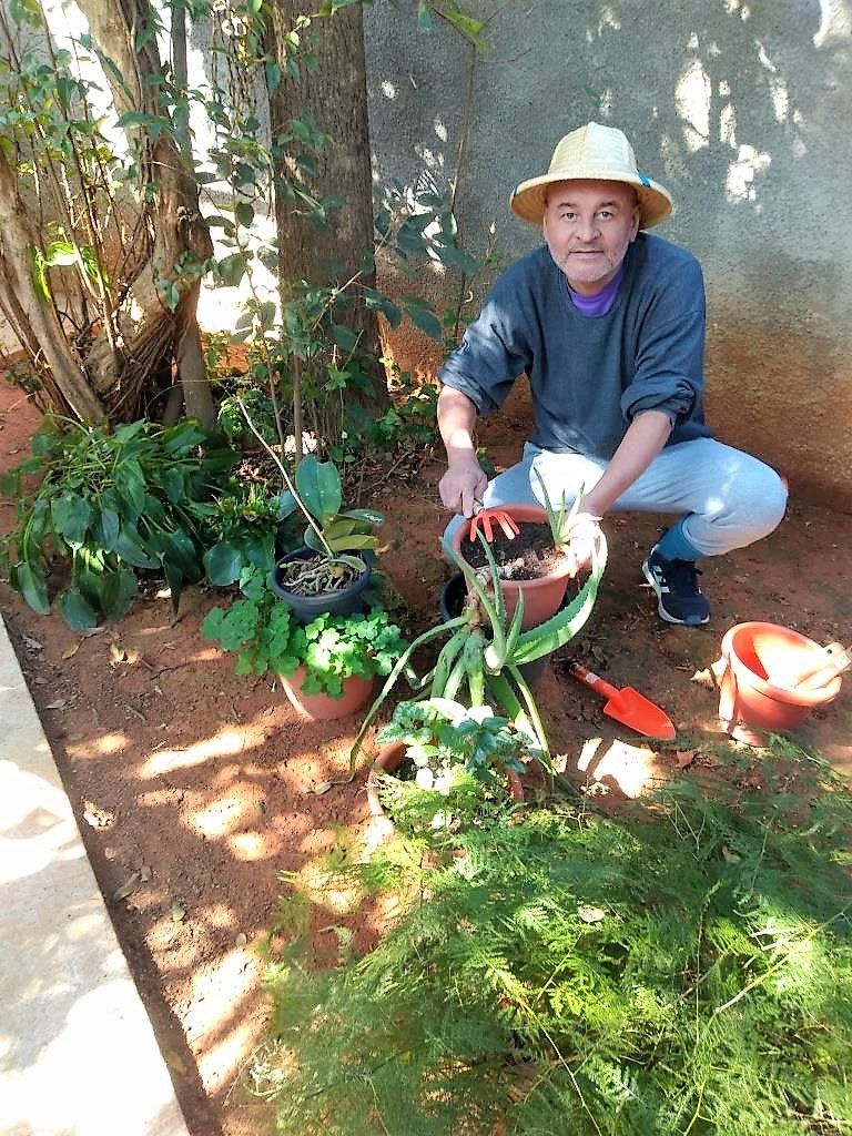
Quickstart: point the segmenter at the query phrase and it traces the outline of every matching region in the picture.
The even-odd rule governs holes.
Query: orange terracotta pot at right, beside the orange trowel
[[[825,665],[825,651],[788,627],[776,624],[737,624],[721,642],[725,663],[720,683],[719,718],[737,741],[762,745],[761,732],[791,730],[813,707],[836,698],[841,676],[824,685],[797,684]]]

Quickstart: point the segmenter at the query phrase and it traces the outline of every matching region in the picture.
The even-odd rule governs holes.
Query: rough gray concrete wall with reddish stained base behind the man
[[[419,33],[408,0],[366,10],[376,176],[458,176],[462,240],[484,248],[493,224],[512,259],[538,240],[508,210],[516,183],[588,118],[620,126],[675,197],[660,234],[704,266],[717,433],[852,511],[850,0],[477,11],[488,52],[471,74],[469,48],[445,24]],[[423,350],[399,343],[403,362]]]

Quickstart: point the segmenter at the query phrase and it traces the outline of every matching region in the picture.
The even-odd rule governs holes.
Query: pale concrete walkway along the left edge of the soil
[[[187,1136],[2,620],[0,1136]]]

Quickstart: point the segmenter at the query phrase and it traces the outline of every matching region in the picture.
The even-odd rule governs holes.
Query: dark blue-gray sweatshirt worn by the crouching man
[[[704,425],[704,283],[684,249],[640,233],[615,303],[584,316],[545,245],[496,281],[438,373],[479,414],[502,406],[526,373],[543,450],[609,460],[633,418],[662,410],[668,445],[711,437]]]

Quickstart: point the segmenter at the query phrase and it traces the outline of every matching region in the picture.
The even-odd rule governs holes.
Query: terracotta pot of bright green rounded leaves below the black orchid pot
[[[214,608],[201,625],[224,651],[237,651],[237,675],[279,677],[295,709],[308,718],[342,718],[361,709],[377,675],[389,675],[406,642],[387,612],[324,612],[300,624],[260,575],[229,608]]]

